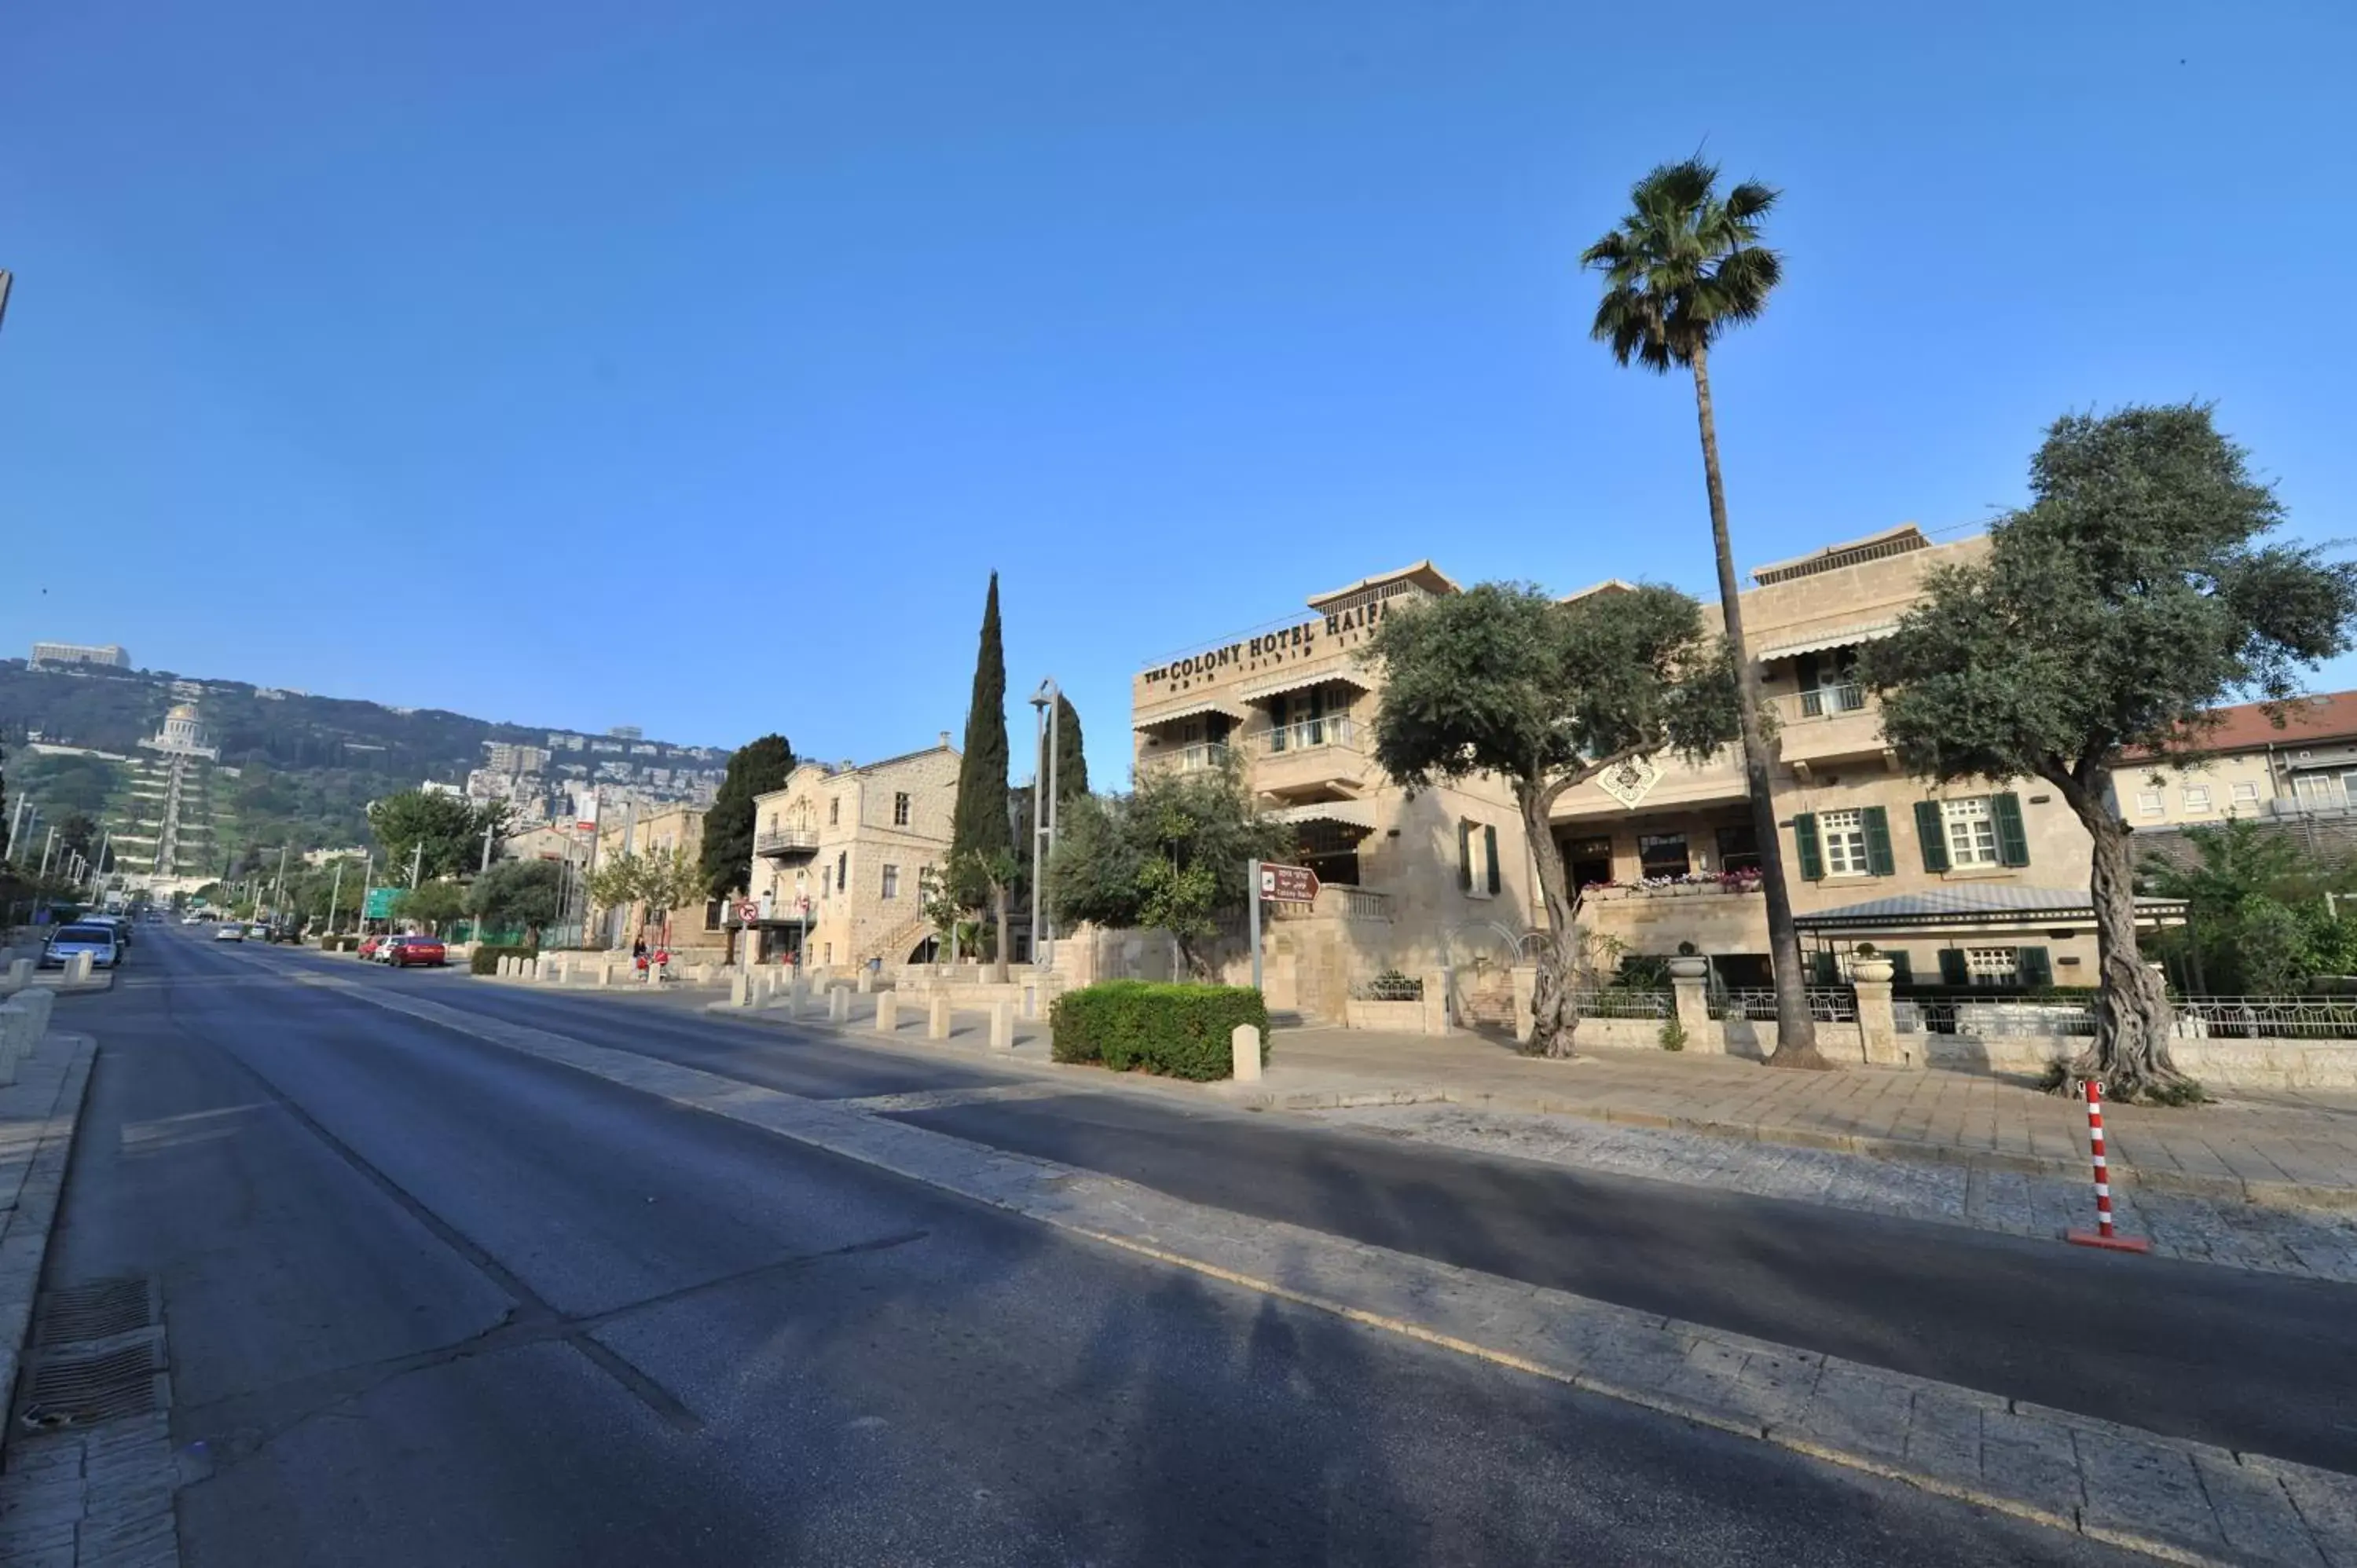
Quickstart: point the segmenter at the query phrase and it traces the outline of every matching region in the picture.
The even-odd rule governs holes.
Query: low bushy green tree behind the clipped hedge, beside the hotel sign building
[[[1056,920],[1155,927],[1178,941],[1190,969],[1223,915],[1244,908],[1252,861],[1282,861],[1294,830],[1263,816],[1244,790],[1242,764],[1193,773],[1148,771],[1122,797],[1075,802],[1047,896]]]

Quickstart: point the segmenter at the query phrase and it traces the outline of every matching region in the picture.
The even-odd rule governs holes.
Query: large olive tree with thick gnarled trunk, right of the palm
[[[2161,976],[2135,943],[2121,747],[2197,755],[2223,703],[2282,703],[2348,651],[2357,568],[2265,542],[2284,521],[2199,403],[2055,420],[2029,505],[1978,561],[1935,568],[1867,651],[1900,762],[1933,780],[2044,778],[2093,839],[2095,1037],[2067,1078],[2192,1099]],[[2131,769],[2150,764],[2128,764]]]

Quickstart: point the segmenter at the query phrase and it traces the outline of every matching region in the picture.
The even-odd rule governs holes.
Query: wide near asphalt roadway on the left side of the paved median
[[[156,931],[64,1009],[49,1285],[163,1283],[186,1563],[2124,1561],[273,974],[318,962]],[[811,1094],[971,1078],[721,1033]]]

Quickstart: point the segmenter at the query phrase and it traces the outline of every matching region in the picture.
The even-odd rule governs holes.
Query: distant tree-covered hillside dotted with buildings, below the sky
[[[9,797],[31,797],[52,818],[82,811],[101,823],[120,816],[127,769],[97,757],[31,755],[26,743],[90,747],[139,757],[139,743],[163,726],[174,703],[196,703],[224,776],[212,783],[214,854],[290,844],[321,849],[365,839],[363,806],[424,780],[464,783],[483,766],[486,743],[547,747],[544,726],[493,724],[438,707],[398,710],[379,703],[273,691],[245,681],[212,681],[167,670],[108,670],[94,665],[33,667],[0,660],[0,747],[7,750]],[[549,766],[552,785],[585,783],[592,771],[613,780],[620,752],[606,740],[575,743]],[[724,755],[662,740],[632,743],[632,764],[717,769]],[[229,773],[233,769],[233,773]]]

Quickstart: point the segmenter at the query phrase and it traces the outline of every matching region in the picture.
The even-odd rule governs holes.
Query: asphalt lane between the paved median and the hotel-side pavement
[[[655,1000],[384,979],[790,1094],[988,1082],[981,1061],[933,1066]],[[853,1078],[834,1078],[844,1070]],[[860,1073],[893,1078],[860,1087]],[[2352,1285],[1483,1158],[1138,1094],[971,1103],[903,1120],[1777,1344],[2357,1471]]]

